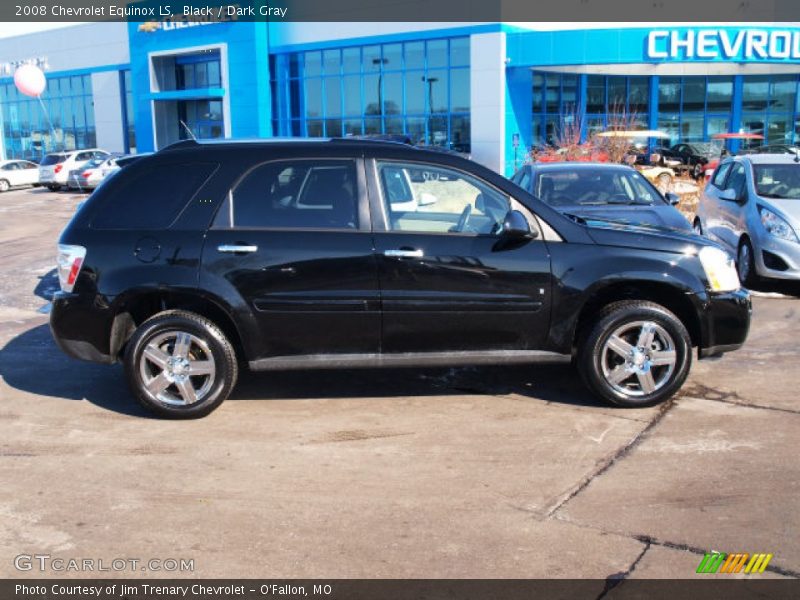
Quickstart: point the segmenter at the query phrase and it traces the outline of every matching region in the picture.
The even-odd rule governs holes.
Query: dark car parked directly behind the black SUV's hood
[[[512,181],[548,206],[583,218],[691,231],[675,205],[675,194],[661,193],[636,169],[607,163],[533,163]]]

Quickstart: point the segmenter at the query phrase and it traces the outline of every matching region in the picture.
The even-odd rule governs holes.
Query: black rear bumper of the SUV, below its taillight
[[[103,308],[78,294],[56,292],[50,311],[50,331],[58,347],[73,358],[110,364],[116,357],[109,350],[114,319]]]

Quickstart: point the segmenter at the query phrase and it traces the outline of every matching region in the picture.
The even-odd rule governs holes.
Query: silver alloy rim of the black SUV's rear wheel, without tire
[[[139,358],[146,393],[170,406],[201,402],[215,377],[214,356],[205,341],[186,331],[166,331],[150,340]]]

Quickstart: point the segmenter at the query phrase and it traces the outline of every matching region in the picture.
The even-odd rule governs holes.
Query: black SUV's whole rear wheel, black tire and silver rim
[[[181,339],[187,339],[186,334],[191,338],[186,352],[176,352],[178,334],[184,336]],[[171,340],[173,335],[176,337]],[[161,349],[162,355],[156,354],[159,360],[180,361],[184,355],[189,365],[202,363],[206,368],[211,365],[213,373],[189,376],[187,373],[191,371],[173,372],[173,369],[185,369],[186,362],[162,369],[152,359],[143,357],[146,348],[149,353]],[[139,403],[157,415],[171,419],[193,419],[209,414],[230,395],[238,376],[236,353],[219,327],[205,317],[179,310],[159,313],[142,323],[126,346],[124,364],[128,385]],[[164,379],[156,381],[162,376]],[[146,377],[151,377],[151,384],[155,383],[153,389],[159,389],[166,380],[170,383],[156,394],[148,391]],[[176,383],[179,380],[183,388]],[[185,387],[187,380],[197,394],[194,402],[184,397],[183,390],[188,389]],[[184,404],[177,402],[181,400]]]

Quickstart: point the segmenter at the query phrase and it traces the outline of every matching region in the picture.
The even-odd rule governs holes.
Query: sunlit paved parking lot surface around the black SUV
[[[718,550],[800,576],[797,287],[755,297],[746,346],[661,407],[601,405],[564,363],[245,374],[170,422],[50,337],[83,198],[0,195],[0,575],[49,554],[200,577],[692,577]]]

